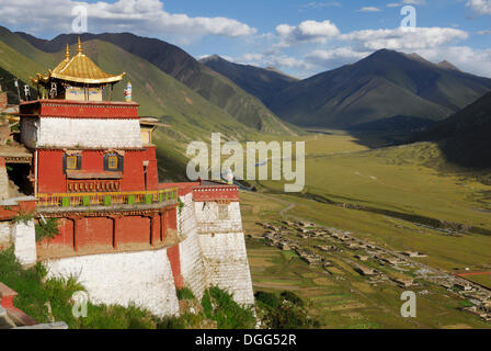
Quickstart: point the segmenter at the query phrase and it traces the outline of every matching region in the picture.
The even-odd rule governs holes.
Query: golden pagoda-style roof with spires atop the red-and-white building
[[[105,84],[117,82],[123,79],[125,73],[112,76],[100,69],[85,54],[82,53],[82,44],[80,37],[78,41],[77,55],[70,58],[70,52],[67,45],[65,59],[56,66],[48,76],[37,73],[37,79],[33,79],[34,83],[47,83],[50,79],[59,79],[70,82],[85,84]]]

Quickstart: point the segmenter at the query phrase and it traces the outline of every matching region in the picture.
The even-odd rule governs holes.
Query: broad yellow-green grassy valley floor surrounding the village
[[[442,272],[491,268],[491,186],[445,165],[435,145],[370,150],[344,134],[302,139],[307,152],[302,194],[283,193],[282,182],[261,182],[256,184],[260,192],[241,193],[243,225],[252,236],[247,244],[255,291],[294,291],[309,301],[312,316],[326,328],[491,327],[459,310],[471,304],[438,284],[424,280],[416,280],[414,287],[369,284],[354,270],[358,263],[354,256],[361,251],[326,253],[333,265],[324,269],[309,265],[294,251],[266,246],[261,238],[265,230],[258,223],[301,219],[347,230],[395,252],[424,252],[426,257],[414,260]],[[305,239],[295,230],[287,233],[286,237],[312,251],[315,246],[330,245],[324,238]],[[415,268],[401,271],[364,262],[370,264],[389,278],[414,278]],[[472,279],[487,285],[489,276]],[[406,290],[418,295],[416,318],[400,315],[400,295]]]

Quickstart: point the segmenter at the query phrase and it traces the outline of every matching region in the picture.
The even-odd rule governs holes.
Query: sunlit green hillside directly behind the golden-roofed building
[[[22,47],[24,56],[3,42]],[[76,46],[70,47],[71,53]],[[83,43],[83,52],[103,70],[111,73],[126,71],[124,82],[130,80],[134,100],[140,104],[141,116],[155,116],[170,124],[170,128],[159,128],[155,134],[158,156],[161,161],[162,179],[183,179],[185,174],[186,145],[192,140],[208,140],[212,132],[222,133],[222,139],[258,138],[258,131],[250,128],[231,117],[227,112],[205,100],[185,84],[164,73],[145,59],[121,47],[103,41]],[[3,33],[0,37],[0,78],[9,88],[11,102],[16,95],[13,78],[30,82],[28,77],[36,72],[46,73],[65,57],[65,50],[43,53],[15,34]],[[32,56],[32,58],[31,58]],[[114,99],[123,100],[124,83],[115,86]],[[35,92],[35,89],[33,89]]]

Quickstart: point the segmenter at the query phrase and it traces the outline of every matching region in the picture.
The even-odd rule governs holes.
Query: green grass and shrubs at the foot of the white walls
[[[46,279],[42,263],[23,269],[16,261],[13,248],[0,251],[0,282],[19,293],[15,307],[37,322],[65,321],[70,329],[183,329],[199,327],[206,317],[183,314],[181,317],[156,317],[139,306],[117,305],[87,306],[87,317],[76,318],[72,314],[72,296],[85,291],[76,278]],[[180,299],[195,299],[189,288],[178,292]],[[215,308],[207,310],[207,317],[217,321],[218,328],[252,328],[255,324],[250,308],[242,308],[230,294],[213,287],[205,292],[204,303]],[[50,312],[49,312],[49,308]]]

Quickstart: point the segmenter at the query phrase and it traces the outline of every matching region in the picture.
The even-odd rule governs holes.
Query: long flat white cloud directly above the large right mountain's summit
[[[469,35],[460,30],[447,27],[415,27],[395,30],[364,30],[342,34],[341,41],[354,41],[364,49],[416,49],[436,47],[455,39],[466,39]]]

